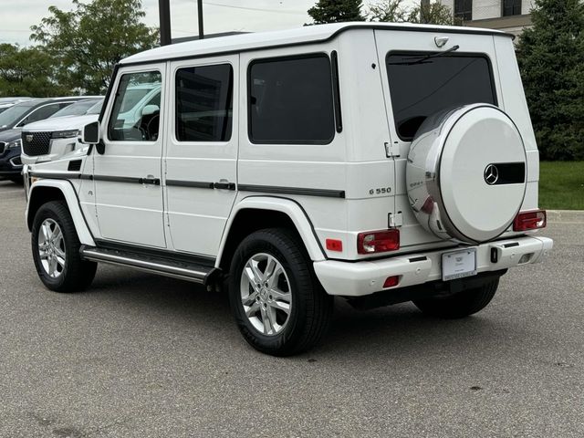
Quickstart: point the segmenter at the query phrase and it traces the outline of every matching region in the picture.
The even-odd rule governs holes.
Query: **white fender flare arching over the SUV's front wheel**
[[[63,194],[63,198],[65,198],[65,202],[67,203],[69,213],[71,214],[71,218],[73,219],[73,224],[75,224],[75,229],[77,231],[79,242],[82,245],[90,245],[95,246],[95,241],[93,240],[93,236],[89,232],[88,224],[85,222],[85,218],[81,213],[81,208],[79,207],[79,201],[77,193],[73,188],[73,185],[68,181],[61,181],[61,180],[38,180],[32,184],[30,187],[30,192],[28,193],[28,203],[26,203],[26,224],[28,224],[28,229],[32,228],[32,223],[34,219],[34,214],[38,208],[35,208],[34,214],[29,217],[29,210],[31,205],[42,205],[44,202],[43,200],[43,189],[44,188],[51,188],[57,189],[59,192]],[[53,199],[47,198],[46,202],[52,201]]]

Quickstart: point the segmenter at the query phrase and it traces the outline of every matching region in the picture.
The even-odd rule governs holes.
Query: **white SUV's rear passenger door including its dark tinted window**
[[[216,256],[235,202],[238,56],[171,63],[165,211],[174,249]]]

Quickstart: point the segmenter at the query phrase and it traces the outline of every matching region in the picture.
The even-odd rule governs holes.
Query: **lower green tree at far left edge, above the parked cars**
[[[68,94],[56,81],[55,62],[39,47],[0,44],[0,96],[45,98]]]

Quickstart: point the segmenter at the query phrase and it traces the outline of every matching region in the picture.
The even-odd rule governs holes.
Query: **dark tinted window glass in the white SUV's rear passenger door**
[[[228,64],[176,72],[178,141],[231,139],[234,73]]]

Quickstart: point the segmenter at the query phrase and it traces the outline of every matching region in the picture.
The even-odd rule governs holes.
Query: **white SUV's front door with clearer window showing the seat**
[[[96,212],[103,239],[166,247],[162,216],[165,64],[122,68],[94,153]],[[113,100],[113,102],[112,102]]]

